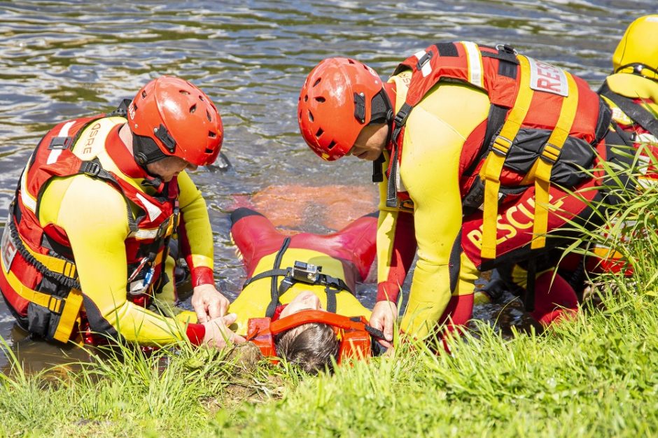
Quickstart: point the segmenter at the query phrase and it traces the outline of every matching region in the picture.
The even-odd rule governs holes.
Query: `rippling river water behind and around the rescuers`
[[[3,1],[0,217],[52,125],[109,111],[151,78],[182,76],[223,118],[232,167],[199,169],[193,179],[211,214],[216,278],[235,297],[244,280],[228,236],[235,205],[251,202],[277,225],[309,232],[374,209],[369,163],[321,162],[300,138],[297,95],[321,59],[355,57],[385,76],[437,41],[508,43],[598,87],[626,26],[655,7],[655,0]],[[25,339],[4,303],[0,336],[37,368],[64,357]]]

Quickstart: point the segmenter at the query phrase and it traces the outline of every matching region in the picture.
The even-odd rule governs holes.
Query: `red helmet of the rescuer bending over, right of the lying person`
[[[297,108],[302,137],[327,161],[346,155],[365,125],[392,114],[379,75],[349,58],[320,62],[309,73]]]

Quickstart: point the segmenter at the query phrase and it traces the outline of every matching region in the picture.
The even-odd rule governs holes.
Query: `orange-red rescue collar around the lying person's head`
[[[328,324],[334,330],[339,341],[338,357],[340,364],[350,358],[364,359],[372,356],[370,337],[384,339],[384,334],[367,325],[363,316],[349,318],[336,313],[319,310],[302,310],[272,322],[270,318],[250,318],[247,323],[247,340],[253,342],[263,356],[273,363],[276,360],[274,337],[294,327],[308,323]]]

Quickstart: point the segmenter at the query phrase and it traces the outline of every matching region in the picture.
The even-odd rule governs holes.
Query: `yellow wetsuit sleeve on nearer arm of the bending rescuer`
[[[484,92],[466,85],[435,87],[407,120],[400,178],[414,202],[418,260],[400,327],[416,337],[433,330],[451,297],[449,260],[461,250],[459,160],[468,135],[489,112]],[[379,242],[378,242],[379,243]],[[475,288],[477,269],[460,257],[452,293]]]

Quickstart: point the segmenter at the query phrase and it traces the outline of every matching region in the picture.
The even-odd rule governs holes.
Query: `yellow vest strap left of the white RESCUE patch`
[[[480,178],[484,179],[484,214],[482,217],[482,258],[496,258],[496,220],[498,218],[498,192],[500,190],[500,172],[507,157],[507,151],[517,136],[521,123],[526,118],[533,97],[530,87],[530,63],[524,56],[517,56],[521,67],[519,93],[514,107],[507,115],[507,120],[500,129],[500,134],[493,141],[491,153],[484,160]]]

